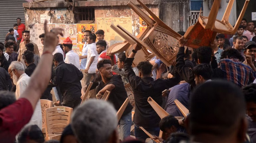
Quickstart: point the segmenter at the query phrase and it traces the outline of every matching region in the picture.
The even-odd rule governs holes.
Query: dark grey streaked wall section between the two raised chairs
[[[189,27],[189,0],[162,0],[159,17],[174,31],[186,31]]]

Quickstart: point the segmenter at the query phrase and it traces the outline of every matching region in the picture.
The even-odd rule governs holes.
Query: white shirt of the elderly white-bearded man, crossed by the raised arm
[[[18,99],[20,95],[25,91],[26,87],[29,84],[29,80],[30,80],[30,77],[26,73],[23,73],[19,77],[16,85],[16,92],[15,92],[16,99]],[[42,111],[41,111],[40,100],[38,100],[34,113],[28,124],[29,125],[36,124],[40,129],[42,129]]]

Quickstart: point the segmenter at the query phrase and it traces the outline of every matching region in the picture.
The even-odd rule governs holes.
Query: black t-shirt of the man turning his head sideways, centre
[[[125,102],[126,98],[128,97],[124,87],[124,83],[120,75],[113,75],[110,81],[106,85],[108,84],[115,85],[115,88],[111,91],[108,97],[108,101],[111,102],[114,105],[115,110],[118,111],[119,108]],[[101,80],[100,84],[96,87],[96,93],[98,93],[106,85]],[[127,113],[131,112],[131,110],[132,110],[132,105],[129,103],[123,115],[126,115]]]

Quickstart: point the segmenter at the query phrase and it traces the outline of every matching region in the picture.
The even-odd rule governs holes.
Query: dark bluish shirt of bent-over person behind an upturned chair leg
[[[190,92],[191,88],[189,83],[183,83],[172,87],[165,106],[166,112],[173,116],[184,117],[174,103],[174,100],[178,99],[179,102],[188,109]]]

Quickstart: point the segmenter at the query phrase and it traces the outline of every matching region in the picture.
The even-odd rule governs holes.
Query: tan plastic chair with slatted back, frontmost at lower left
[[[46,119],[46,140],[58,138],[64,128],[70,123],[72,108],[65,106],[52,107],[44,110]]]

